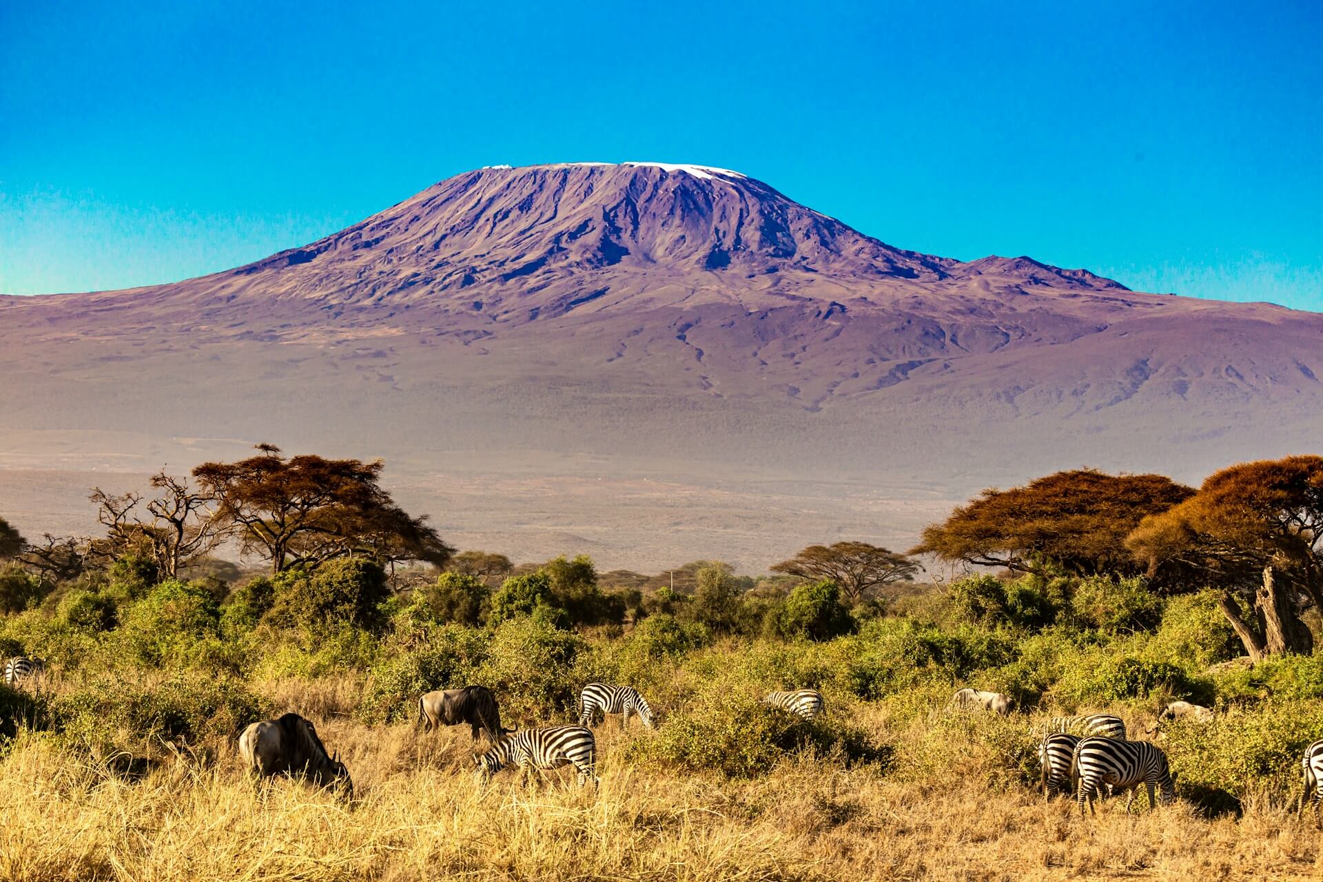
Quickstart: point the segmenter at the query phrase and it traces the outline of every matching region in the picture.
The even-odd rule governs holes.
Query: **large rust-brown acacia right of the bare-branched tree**
[[[217,522],[238,537],[242,553],[271,561],[273,573],[348,555],[441,566],[454,554],[426,517],[409,516],[381,489],[381,460],[257,450],[237,463],[204,463],[193,476],[214,497]]]

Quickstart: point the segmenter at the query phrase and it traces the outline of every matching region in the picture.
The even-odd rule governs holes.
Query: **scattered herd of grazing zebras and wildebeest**
[[[16,686],[44,676],[46,665],[41,659],[19,656],[4,665],[4,682]],[[812,721],[823,711],[822,693],[814,689],[773,692],[765,703]],[[1011,700],[1000,693],[960,689],[953,696],[950,707],[983,709],[998,714],[1011,711]],[[438,726],[471,727],[476,746],[486,735],[490,748],[474,754],[474,766],[482,782],[505,766],[521,771],[527,783],[536,772],[562,766],[573,766],[579,785],[597,785],[597,741],[591,726],[597,717],[619,714],[622,727],[631,715],[652,729],[658,718],[647,700],[632,686],[614,686],[591,682],[578,700],[576,723],[541,726],[536,729],[504,729],[496,698],[486,686],[464,686],[430,692],[418,700],[418,723],[426,729]],[[1172,702],[1159,721],[1176,717],[1207,719],[1207,707],[1188,702]],[[1154,730],[1150,730],[1154,731]],[[349,771],[339,756],[327,752],[312,723],[298,714],[284,714],[247,726],[239,737],[239,754],[259,779],[287,774],[306,778],[319,785],[336,785],[352,792]],[[1148,793],[1150,811],[1158,801],[1170,803],[1176,796],[1176,774],[1167,763],[1167,754],[1146,741],[1130,741],[1126,723],[1113,714],[1081,717],[1053,717],[1039,744],[1041,766],[1040,788],[1044,799],[1074,792],[1080,813],[1097,813],[1094,799],[1106,793],[1130,791],[1126,800],[1129,812],[1143,784]],[[1323,828],[1323,739],[1304,748],[1301,759],[1304,789],[1299,799],[1303,813],[1306,801],[1314,807],[1315,825]]]

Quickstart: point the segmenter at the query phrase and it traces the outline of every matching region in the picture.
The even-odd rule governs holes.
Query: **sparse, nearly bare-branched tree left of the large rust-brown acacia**
[[[146,554],[161,577],[172,579],[224,542],[225,530],[216,517],[212,493],[193,489],[185,479],[164,471],[152,475],[151,485],[156,493],[143,505],[148,520],[138,514],[142,495],[111,496],[99,487],[93,489],[97,520],[106,526],[105,542],[94,547],[102,557]]]

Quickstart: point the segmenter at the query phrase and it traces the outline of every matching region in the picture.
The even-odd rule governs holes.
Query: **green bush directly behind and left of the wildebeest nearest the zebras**
[[[359,718],[368,723],[413,719],[423,693],[472,682],[470,673],[486,660],[486,644],[479,631],[447,625],[433,631],[422,648],[382,653],[363,690]]]

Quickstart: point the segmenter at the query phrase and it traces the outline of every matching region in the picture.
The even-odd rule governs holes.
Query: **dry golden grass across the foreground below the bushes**
[[[1266,800],[1250,800],[1240,820],[1203,820],[1184,804],[1126,816],[1119,800],[1081,820],[1065,800],[988,789],[980,755],[967,783],[950,771],[882,775],[806,758],[732,782],[624,764],[614,719],[598,730],[599,791],[574,787],[568,770],[541,788],[507,771],[478,789],[462,729],[363,726],[343,715],[353,698],[344,682],[266,690],[320,711],[306,710],[353,774],[351,804],[288,780],[255,788],[232,746],[214,764],[161,763],[131,782],[26,737],[0,760],[0,878],[1323,877],[1312,824]],[[902,754],[923,726],[863,722]]]

